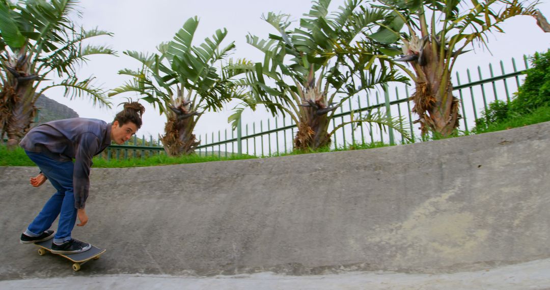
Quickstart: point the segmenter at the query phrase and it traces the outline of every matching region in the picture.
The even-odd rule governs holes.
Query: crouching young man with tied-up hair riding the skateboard
[[[47,122],[27,133],[20,146],[41,170],[30,179],[31,185],[37,187],[50,180],[57,192],[21,234],[21,243],[53,238],[52,253],[56,254],[90,249],[90,244],[71,238],[71,232],[77,216],[80,220],[77,226],[88,222],[84,208],[90,187],[92,157],[100,154],[111,141],[119,145],[128,141],[141,127],[144,111],[138,102],[125,103],[124,110],[109,124],[102,120],[73,118]],[[49,228],[58,215],[55,233]]]

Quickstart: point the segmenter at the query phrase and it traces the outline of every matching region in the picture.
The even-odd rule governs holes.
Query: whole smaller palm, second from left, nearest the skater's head
[[[158,54],[124,52],[138,60],[141,68],[120,70],[119,74],[133,79],[109,93],[138,92],[145,101],[158,105],[167,118],[162,143],[171,156],[194,153],[199,141],[193,130],[201,114],[221,109],[238,97],[230,82],[232,75],[223,68],[218,72],[216,66],[235,47],[233,42],[221,47],[227,30],[218,29],[199,46],[192,46],[198,25],[196,16],[188,19],[174,40],[158,46]]]

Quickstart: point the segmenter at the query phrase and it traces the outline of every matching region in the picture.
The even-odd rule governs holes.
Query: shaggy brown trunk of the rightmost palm
[[[439,136],[449,136],[458,127],[461,118],[458,113],[459,100],[453,96],[453,85],[450,71],[439,62],[438,53],[433,53],[431,43],[423,50],[423,60],[413,64],[416,71],[416,91],[411,99],[414,102],[412,111],[419,115],[422,135],[432,131]],[[445,62],[445,59],[443,60]]]

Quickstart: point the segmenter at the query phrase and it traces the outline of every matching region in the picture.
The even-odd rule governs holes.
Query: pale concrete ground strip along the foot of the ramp
[[[332,275],[283,276],[273,273],[215,277],[167,275],[102,275],[0,281],[1,289],[550,289],[550,259],[475,272],[404,274],[350,272]]]

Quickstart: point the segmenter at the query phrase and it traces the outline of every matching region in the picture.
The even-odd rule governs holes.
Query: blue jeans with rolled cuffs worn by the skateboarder
[[[42,232],[48,230],[53,222],[59,216],[56,235],[53,242],[61,244],[71,239],[70,233],[73,231],[76,222],[77,209],[74,207],[74,188],[73,188],[73,170],[72,161],[53,160],[41,153],[29,152],[25,150],[29,158],[38,165],[42,174],[48,177],[57,192],[46,202],[40,214],[31,222],[25,235],[40,236]]]

